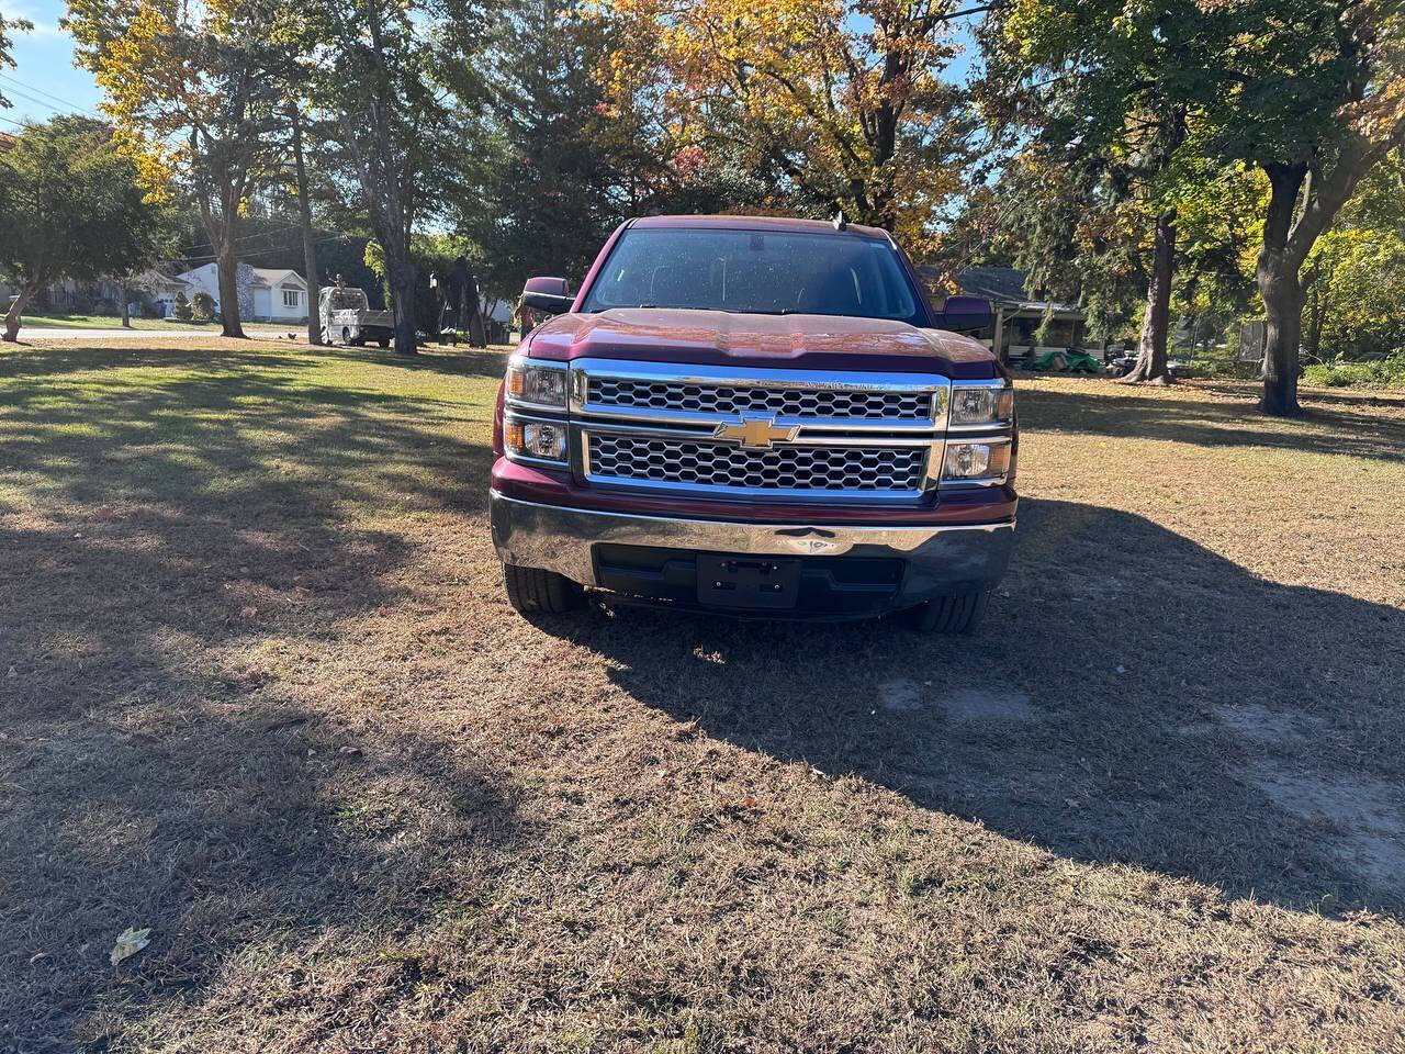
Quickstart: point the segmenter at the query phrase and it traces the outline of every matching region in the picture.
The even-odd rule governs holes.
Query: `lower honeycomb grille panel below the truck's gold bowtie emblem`
[[[896,493],[922,483],[922,447],[771,447],[594,434],[590,474],[693,486]]]

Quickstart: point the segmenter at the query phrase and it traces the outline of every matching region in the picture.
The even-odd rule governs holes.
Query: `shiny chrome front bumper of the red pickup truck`
[[[489,497],[493,545],[503,562],[555,571],[586,586],[599,585],[592,549],[601,542],[769,557],[896,557],[908,566],[899,599],[917,603],[993,586],[1014,544],[1013,521],[941,527],[722,523],[540,505],[497,490]]]

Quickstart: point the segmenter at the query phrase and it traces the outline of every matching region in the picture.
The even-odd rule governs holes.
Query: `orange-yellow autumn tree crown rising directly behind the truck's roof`
[[[613,84],[681,146],[731,149],[777,195],[901,233],[919,253],[962,190],[971,122],[941,73],[951,0],[608,0]]]

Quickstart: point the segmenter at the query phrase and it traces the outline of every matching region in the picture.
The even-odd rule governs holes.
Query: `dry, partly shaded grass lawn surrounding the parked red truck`
[[[542,630],[500,370],[0,353],[0,1050],[1402,1050],[1405,398],[1021,381],[974,639]]]

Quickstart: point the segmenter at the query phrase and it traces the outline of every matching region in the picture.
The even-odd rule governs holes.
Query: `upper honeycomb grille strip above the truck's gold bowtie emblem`
[[[760,410],[784,417],[932,420],[932,395],[924,392],[697,385],[679,381],[592,377],[587,395],[589,402],[594,406],[629,406],[646,410],[691,410],[694,413]]]

